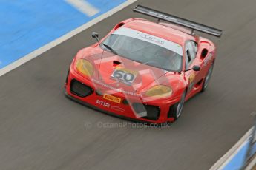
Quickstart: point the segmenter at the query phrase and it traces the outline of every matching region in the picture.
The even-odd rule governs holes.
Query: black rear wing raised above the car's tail
[[[202,33],[207,33],[209,35],[214,35],[214,36],[217,36],[218,38],[220,38],[222,33],[223,33],[222,30],[216,29],[214,27],[209,27],[209,26],[204,25],[204,24],[199,24],[199,23],[194,22],[194,21],[189,21],[187,19],[180,18],[180,17],[177,17],[177,16],[173,16],[171,14],[163,13],[163,12],[160,12],[160,11],[157,11],[157,10],[153,10],[151,8],[148,8],[148,7],[143,7],[141,5],[137,5],[137,7],[134,8],[134,12],[142,13],[142,14],[145,14],[147,16],[152,16],[154,18],[157,18],[158,21],[164,20],[164,21],[168,21],[168,22],[171,22],[171,23],[174,23],[174,24],[181,25],[183,27],[188,27],[188,28],[192,29],[191,34],[194,33],[194,30],[197,30],[197,31],[200,31]]]

